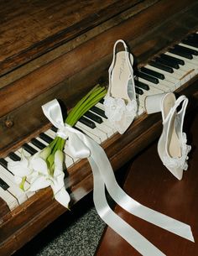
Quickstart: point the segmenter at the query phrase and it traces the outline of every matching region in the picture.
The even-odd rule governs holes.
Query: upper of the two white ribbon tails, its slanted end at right
[[[173,232],[182,238],[194,242],[189,225],[143,206],[138,203],[138,201],[128,196],[117,184],[112,166],[102,147],[95,142],[91,142],[89,148],[91,149],[91,157],[95,160],[98,170],[100,170],[107,191],[119,206],[127,212],[132,213],[134,216],[140,217],[147,222],[153,223],[156,226],[162,227],[169,232]]]

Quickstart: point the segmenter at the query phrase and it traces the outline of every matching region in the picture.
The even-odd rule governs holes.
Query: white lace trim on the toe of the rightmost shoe
[[[163,164],[169,168],[169,169],[177,169],[180,168],[182,170],[187,170],[188,169],[188,164],[187,160],[188,154],[190,152],[191,146],[187,145],[187,139],[186,139],[186,134],[182,133],[182,138],[181,138],[181,157],[177,158],[171,158],[169,155],[164,156],[163,158]]]

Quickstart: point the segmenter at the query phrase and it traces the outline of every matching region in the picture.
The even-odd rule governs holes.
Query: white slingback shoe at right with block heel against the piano
[[[158,153],[163,164],[178,180],[182,179],[183,170],[188,169],[187,159],[191,149],[183,133],[187,104],[188,99],[184,95],[176,100],[172,92],[148,96],[145,100],[148,114],[162,112],[163,132],[159,138]],[[180,111],[177,112],[179,106]]]

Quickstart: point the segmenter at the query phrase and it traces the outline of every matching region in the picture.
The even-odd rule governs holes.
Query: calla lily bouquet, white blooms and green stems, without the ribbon
[[[85,112],[105,97],[106,93],[105,87],[95,86],[69,112],[65,123],[73,127]],[[68,208],[70,196],[64,183],[65,141],[66,137],[57,133],[49,146],[33,156],[27,157],[22,151],[20,161],[9,162],[8,170],[13,172],[16,183],[23,191],[38,191],[51,186],[55,200]],[[29,187],[24,189],[26,180],[29,181]]]

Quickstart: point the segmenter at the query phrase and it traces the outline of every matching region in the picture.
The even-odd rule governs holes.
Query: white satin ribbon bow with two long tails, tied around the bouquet
[[[105,186],[112,199],[126,211],[194,242],[189,225],[141,205],[122,190],[117,184],[112,166],[102,147],[84,133],[71,128],[70,125],[63,122],[60,105],[57,100],[48,102],[42,108],[44,115],[58,128],[57,135],[61,138],[68,138],[67,145],[73,157],[87,158],[89,160],[94,179],[93,199],[96,211],[109,227],[128,241],[142,255],[165,255],[133,227],[128,225],[127,222],[123,221],[121,217],[118,217],[115,212],[112,212],[105,196]]]

